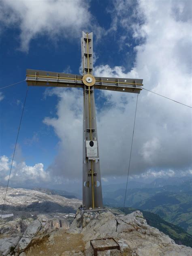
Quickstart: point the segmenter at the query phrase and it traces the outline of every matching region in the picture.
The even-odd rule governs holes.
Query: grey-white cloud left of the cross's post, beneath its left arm
[[[79,179],[82,169],[82,90],[56,88],[47,91],[47,94],[60,98],[57,106],[58,117],[44,119],[44,123],[53,126],[60,138],[59,154],[48,170],[55,177]]]

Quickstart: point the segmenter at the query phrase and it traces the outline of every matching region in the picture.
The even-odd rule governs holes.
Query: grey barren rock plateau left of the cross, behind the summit
[[[6,189],[0,187],[0,205],[4,204]],[[64,196],[45,194],[23,188],[8,188],[6,204],[0,222],[0,235],[23,233],[39,214],[49,219],[72,222],[81,201]]]

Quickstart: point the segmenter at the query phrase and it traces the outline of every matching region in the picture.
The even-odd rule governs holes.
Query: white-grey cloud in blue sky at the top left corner
[[[19,26],[21,50],[28,51],[32,39],[73,38],[92,20],[88,2],[83,0],[2,0],[0,21],[4,26]],[[89,21],[89,22],[88,22]]]

